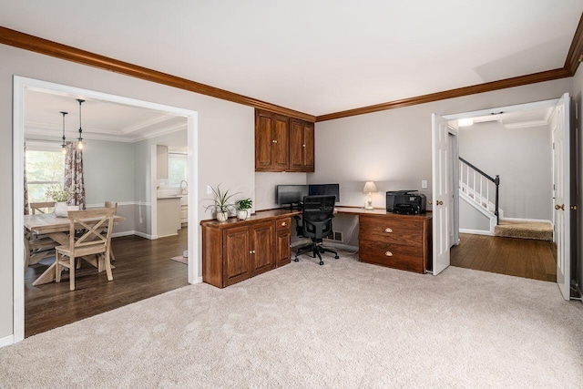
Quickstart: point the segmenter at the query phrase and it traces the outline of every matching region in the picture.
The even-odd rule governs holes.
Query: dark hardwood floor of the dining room
[[[76,290],[69,291],[68,272],[60,283],[33,286],[53,259],[30,266],[25,273],[25,336],[43,333],[89,316],[114,310],[188,285],[187,265],[170,261],[187,249],[188,230],[178,237],[149,241],[138,236],[112,240],[116,260],[113,281],[106,272],[83,261],[77,272]],[[43,263],[45,262],[45,263]]]

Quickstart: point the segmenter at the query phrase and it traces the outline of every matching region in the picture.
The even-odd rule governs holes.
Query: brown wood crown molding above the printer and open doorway
[[[564,68],[558,68],[554,70],[533,73],[526,76],[512,77],[498,81],[486,82],[484,84],[477,84],[470,87],[458,87],[455,89],[445,90],[443,92],[430,93],[429,95],[403,98],[400,100],[389,101],[387,103],[375,104],[373,106],[348,109],[345,111],[335,112],[332,114],[316,117],[316,122],[332,120],[335,118],[348,118],[356,115],[370,114],[373,112],[384,111],[387,109],[415,106],[417,104],[431,103],[433,101],[445,100],[447,98],[475,95],[477,93],[491,92],[493,90],[498,89],[506,89],[506,87],[520,87],[523,85],[535,84],[537,82],[543,81],[551,81],[554,79],[565,77],[571,77],[570,73]]]

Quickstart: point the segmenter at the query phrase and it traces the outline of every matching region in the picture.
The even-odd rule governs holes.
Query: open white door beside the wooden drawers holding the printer
[[[451,247],[451,223],[449,210],[452,206],[451,196],[451,161],[449,155],[449,128],[447,120],[431,116],[433,146],[433,273],[444,271],[449,266],[449,248]]]

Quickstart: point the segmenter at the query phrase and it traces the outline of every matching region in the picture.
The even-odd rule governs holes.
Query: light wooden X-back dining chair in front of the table
[[[75,291],[76,258],[82,258],[97,268],[103,262],[107,272],[107,280],[113,281],[109,252],[115,214],[116,210],[114,208],[70,210],[68,212],[69,244],[56,247],[56,282],[61,282],[62,268],[68,268],[69,289]],[[107,228],[106,234],[101,233],[104,228]],[[79,229],[84,229],[85,231],[76,240],[75,231]],[[68,260],[63,257],[67,257]]]

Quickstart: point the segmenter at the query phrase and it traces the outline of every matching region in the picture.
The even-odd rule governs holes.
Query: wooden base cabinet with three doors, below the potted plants
[[[290,263],[292,219],[201,222],[202,280],[219,288]]]

